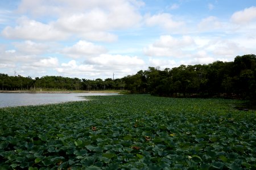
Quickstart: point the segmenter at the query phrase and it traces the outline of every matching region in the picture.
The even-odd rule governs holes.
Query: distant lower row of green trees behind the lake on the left
[[[63,76],[42,76],[32,79],[30,76],[23,77],[0,74],[1,90],[123,90],[125,83],[121,79],[79,79]]]

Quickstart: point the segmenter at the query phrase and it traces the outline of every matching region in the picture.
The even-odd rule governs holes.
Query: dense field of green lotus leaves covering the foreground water
[[[0,109],[1,169],[255,169],[240,100],[150,95]]]

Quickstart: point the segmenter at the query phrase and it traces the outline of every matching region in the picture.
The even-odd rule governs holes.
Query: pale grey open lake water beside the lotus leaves
[[[67,101],[86,100],[82,96],[104,96],[117,94],[104,93],[70,93],[70,94],[23,94],[23,93],[0,93],[0,108],[15,107],[22,105],[42,105],[63,103]]]

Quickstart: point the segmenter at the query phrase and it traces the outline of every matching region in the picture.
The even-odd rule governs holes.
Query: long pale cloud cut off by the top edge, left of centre
[[[91,10],[92,8],[104,8],[104,10],[109,10],[110,8],[120,8],[124,10],[126,8],[132,11],[136,10],[138,7],[144,5],[144,2],[137,0],[111,0],[111,1],[101,1],[101,0],[22,0],[19,4],[18,12],[24,14],[31,14],[34,17],[40,16],[63,16],[70,15],[74,13],[84,12],[86,10]]]

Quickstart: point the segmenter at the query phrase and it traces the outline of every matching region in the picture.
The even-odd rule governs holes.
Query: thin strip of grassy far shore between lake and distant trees
[[[71,93],[104,93],[119,94],[123,91],[101,90],[101,91],[30,91],[30,90],[1,90],[0,93],[16,93],[16,94],[71,94]]]

